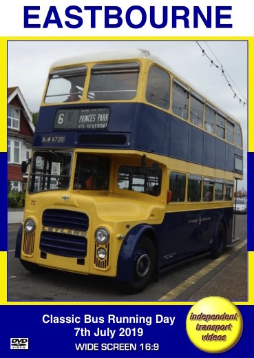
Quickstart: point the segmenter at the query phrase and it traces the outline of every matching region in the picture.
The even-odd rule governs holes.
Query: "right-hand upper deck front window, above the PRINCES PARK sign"
[[[87,99],[89,101],[114,101],[135,98],[138,73],[137,62],[94,65]]]

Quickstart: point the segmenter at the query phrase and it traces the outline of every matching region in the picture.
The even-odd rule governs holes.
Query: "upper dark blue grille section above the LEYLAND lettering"
[[[42,223],[45,227],[87,231],[89,219],[85,213],[80,211],[47,209],[43,212]]]

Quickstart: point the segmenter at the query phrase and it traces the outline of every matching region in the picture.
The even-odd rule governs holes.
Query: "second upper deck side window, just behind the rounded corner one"
[[[173,81],[173,113],[187,119],[188,118],[189,91],[176,79]]]

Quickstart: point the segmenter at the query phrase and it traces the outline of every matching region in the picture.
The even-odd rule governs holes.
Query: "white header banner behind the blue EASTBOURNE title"
[[[253,36],[252,1],[12,0],[0,36]]]

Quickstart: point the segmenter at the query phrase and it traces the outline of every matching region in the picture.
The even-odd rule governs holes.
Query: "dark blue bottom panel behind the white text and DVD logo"
[[[253,357],[253,306],[238,306],[242,314],[244,328],[240,340],[220,357]],[[3,307],[1,307],[3,310]],[[2,357],[211,357],[211,354],[196,348],[186,332],[186,319],[191,306],[6,306],[2,317],[1,356]],[[81,317],[80,324],[43,323],[43,315]],[[104,323],[83,323],[84,315],[90,319],[104,320]],[[145,323],[114,324],[108,323],[108,315],[151,317],[151,325]],[[156,315],[175,317],[173,325],[156,323]],[[89,316],[86,316],[89,317]],[[161,321],[161,319],[158,319]],[[78,335],[74,328],[86,328],[85,336]],[[95,337],[97,329],[116,330],[113,338]],[[142,328],[143,335],[137,334],[119,337],[119,328]],[[88,330],[90,335],[88,335]],[[132,331],[133,332],[133,331]],[[28,350],[10,350],[10,339],[28,338]],[[75,344],[136,344],[136,350],[119,352],[118,350],[77,351]],[[159,350],[141,350],[140,344],[159,344]]]

